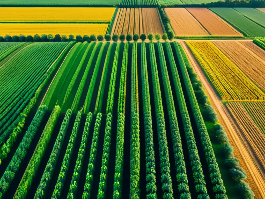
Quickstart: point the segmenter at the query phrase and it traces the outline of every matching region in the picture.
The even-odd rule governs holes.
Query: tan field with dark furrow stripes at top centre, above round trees
[[[115,26],[114,26],[115,25]],[[163,34],[156,8],[121,8],[117,12],[112,34]]]

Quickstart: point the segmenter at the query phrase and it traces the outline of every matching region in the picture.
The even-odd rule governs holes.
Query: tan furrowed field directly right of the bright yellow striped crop
[[[251,41],[249,43],[251,49]],[[249,77],[260,89],[265,90],[265,61],[239,41],[214,41],[218,47],[236,66]],[[265,57],[265,51],[263,51]]]

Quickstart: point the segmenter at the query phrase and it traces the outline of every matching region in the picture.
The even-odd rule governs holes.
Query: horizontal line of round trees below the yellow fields
[[[149,39],[150,41],[152,41],[154,38],[156,40],[160,40],[161,36],[160,34],[156,34],[155,36],[153,34],[149,34],[148,36],[146,36],[146,34],[141,34],[140,35],[140,39],[141,40],[146,40]],[[164,33],[162,35],[162,39],[164,40],[172,40],[174,38],[174,35],[167,35],[166,33]],[[127,34],[127,36],[125,36],[124,34],[121,34],[120,36],[118,36],[117,34],[114,34],[112,37],[110,34],[106,34],[105,36],[102,35],[98,35],[96,37],[96,35],[91,34],[90,37],[88,35],[84,35],[83,37],[78,34],[76,36],[76,38],[74,38],[73,34],[70,34],[67,38],[66,35],[62,35],[60,36],[60,34],[56,34],[55,36],[53,36],[52,34],[42,34],[41,36],[39,36],[38,34],[35,34],[33,37],[31,35],[28,35],[27,37],[24,34],[20,34],[19,36],[17,35],[13,35],[12,37],[9,34],[6,34],[5,37],[0,36],[0,42],[60,42],[60,41],[76,41],[76,42],[91,42],[91,41],[111,41],[113,40],[114,42],[117,42],[118,40],[120,41],[124,41],[125,39],[127,41],[137,41],[139,40],[139,35],[138,34],[134,34],[133,36],[131,34]]]

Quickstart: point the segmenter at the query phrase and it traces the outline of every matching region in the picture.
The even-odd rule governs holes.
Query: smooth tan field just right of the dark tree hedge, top
[[[209,33],[185,8],[165,8],[176,36],[207,36]]]

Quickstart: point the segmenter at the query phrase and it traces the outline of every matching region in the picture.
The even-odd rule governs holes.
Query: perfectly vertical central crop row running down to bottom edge
[[[140,198],[140,121],[137,66],[137,42],[134,42],[131,64],[130,198]]]

